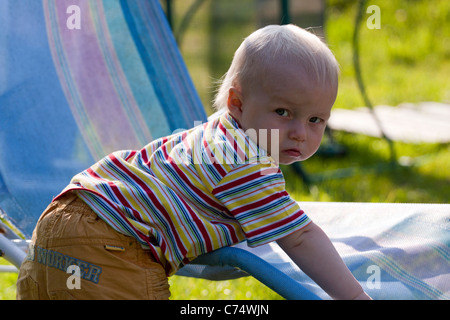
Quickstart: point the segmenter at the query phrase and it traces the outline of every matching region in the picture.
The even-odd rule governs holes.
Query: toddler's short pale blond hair
[[[316,35],[292,24],[270,25],[253,32],[236,50],[230,68],[220,81],[213,107],[225,109],[230,88],[242,89],[258,76],[261,67],[279,59],[301,65],[311,81],[337,88],[339,65]]]

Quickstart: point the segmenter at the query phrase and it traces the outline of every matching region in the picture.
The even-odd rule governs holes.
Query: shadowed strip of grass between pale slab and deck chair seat
[[[305,182],[292,166],[282,166],[286,188],[299,201],[448,203],[449,144],[396,143],[390,162],[382,139],[338,133],[347,154],[316,155],[302,163]]]

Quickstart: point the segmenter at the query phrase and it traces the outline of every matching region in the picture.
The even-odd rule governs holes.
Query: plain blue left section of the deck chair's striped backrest
[[[30,235],[46,203],[93,159],[77,140],[41,2],[0,7],[0,207]],[[80,156],[72,158],[74,145]]]

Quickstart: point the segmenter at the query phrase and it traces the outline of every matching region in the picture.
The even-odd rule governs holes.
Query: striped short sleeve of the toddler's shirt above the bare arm
[[[213,194],[240,223],[251,247],[283,238],[311,222],[286,192],[283,174],[272,163],[237,166]]]

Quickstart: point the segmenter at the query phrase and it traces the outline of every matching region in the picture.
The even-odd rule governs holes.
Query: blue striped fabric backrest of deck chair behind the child
[[[0,21],[0,207],[27,236],[96,160],[206,121],[158,1],[3,0]]]

